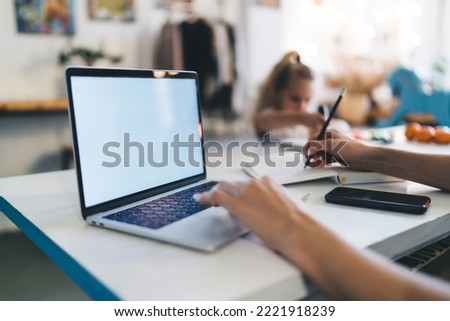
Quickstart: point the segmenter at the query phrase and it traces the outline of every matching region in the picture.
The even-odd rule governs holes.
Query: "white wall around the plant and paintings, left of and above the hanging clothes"
[[[101,45],[108,53],[122,55],[118,66],[152,67],[152,42],[167,16],[166,11],[155,8],[154,0],[136,0],[136,21],[131,23],[89,20],[86,1],[73,2],[73,44]],[[224,1],[222,6],[217,3],[197,1],[197,10],[242,24],[239,0]],[[63,98],[64,68],[58,66],[57,56],[67,48],[68,40],[65,36],[18,34],[14,1],[0,1],[0,100]]]

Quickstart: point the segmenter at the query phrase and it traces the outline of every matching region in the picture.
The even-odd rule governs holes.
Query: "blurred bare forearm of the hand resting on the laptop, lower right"
[[[306,222],[299,223],[293,244],[282,252],[331,297],[450,299],[450,287],[445,284],[413,275],[374,253],[355,249],[311,218],[303,220]]]

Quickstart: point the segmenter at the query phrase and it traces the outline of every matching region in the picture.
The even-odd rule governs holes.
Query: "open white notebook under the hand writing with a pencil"
[[[282,155],[272,153],[266,155],[255,164],[241,162],[241,167],[249,176],[261,178],[271,176],[283,185],[308,182],[328,178],[342,185],[396,182],[402,179],[376,172],[358,172],[340,165],[324,168],[304,168],[301,153],[287,151]]]

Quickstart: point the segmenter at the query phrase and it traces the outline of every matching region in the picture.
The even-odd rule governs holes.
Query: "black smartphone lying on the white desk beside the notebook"
[[[427,196],[336,187],[325,195],[329,203],[375,208],[410,214],[423,214],[430,206]]]

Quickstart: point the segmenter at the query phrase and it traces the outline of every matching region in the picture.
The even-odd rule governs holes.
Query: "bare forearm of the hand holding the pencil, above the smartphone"
[[[370,148],[366,169],[450,191],[450,155],[428,155]]]

